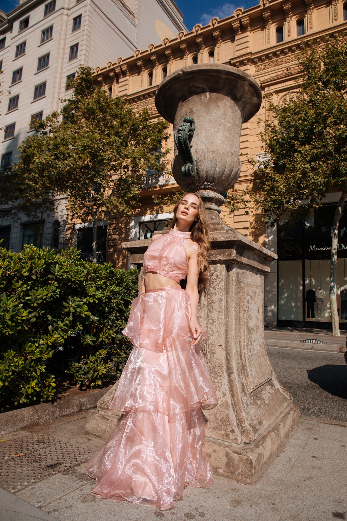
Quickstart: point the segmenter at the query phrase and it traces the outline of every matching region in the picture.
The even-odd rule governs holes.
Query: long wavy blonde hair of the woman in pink
[[[208,281],[208,273],[210,269],[209,259],[207,258],[207,254],[211,250],[211,243],[209,241],[209,225],[206,215],[206,210],[200,195],[193,192],[186,192],[182,195],[181,199],[176,203],[173,209],[173,219],[171,221],[170,227],[173,228],[177,221],[177,209],[178,205],[182,202],[186,195],[195,195],[199,199],[199,214],[198,219],[192,223],[189,228],[190,238],[192,241],[196,242],[199,245],[198,251],[198,268],[199,268],[199,278],[198,278],[198,291],[199,293],[204,289]]]

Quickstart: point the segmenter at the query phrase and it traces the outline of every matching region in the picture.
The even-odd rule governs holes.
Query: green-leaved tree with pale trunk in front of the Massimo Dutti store
[[[306,217],[328,191],[341,192],[332,226],[330,307],[332,330],[340,335],[336,300],[338,229],[347,198],[347,40],[305,44],[298,57],[296,99],[270,103],[273,120],[260,133],[264,157],[256,199],[269,225],[291,214]]]

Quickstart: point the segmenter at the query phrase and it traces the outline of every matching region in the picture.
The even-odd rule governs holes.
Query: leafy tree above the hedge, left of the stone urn
[[[36,133],[19,147],[19,162],[2,176],[1,192],[3,202],[7,197],[18,210],[39,216],[66,194],[71,217],[93,224],[96,262],[97,221],[108,211],[130,215],[147,170],[164,171],[159,159],[168,151],[153,151],[168,139],[167,125],[109,97],[89,67],[79,68],[73,86],[60,113],[32,122]]]

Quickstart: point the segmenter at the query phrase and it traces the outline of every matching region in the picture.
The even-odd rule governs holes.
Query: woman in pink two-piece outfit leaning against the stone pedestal
[[[134,348],[110,408],[124,414],[86,467],[102,498],[168,510],[185,485],[214,482],[202,450],[200,406],[216,405],[216,388],[199,345],[208,336],[197,318],[209,249],[203,203],[185,194],[170,232],[152,237],[142,292],[123,330]]]

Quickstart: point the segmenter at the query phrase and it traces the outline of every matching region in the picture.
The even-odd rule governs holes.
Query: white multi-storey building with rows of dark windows
[[[182,30],[183,15],[172,0],[24,0],[7,15],[1,11],[1,165],[16,162],[33,118],[59,110],[80,65],[95,69]],[[61,201],[55,215],[45,216],[38,245],[62,247],[65,207]],[[34,225],[25,216],[0,214],[3,245],[20,251],[32,242]]]

